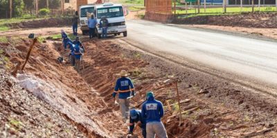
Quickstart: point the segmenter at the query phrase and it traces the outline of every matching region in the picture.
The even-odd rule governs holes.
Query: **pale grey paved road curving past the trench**
[[[144,50],[277,86],[276,42],[141,20],[127,21],[127,30],[123,40]]]

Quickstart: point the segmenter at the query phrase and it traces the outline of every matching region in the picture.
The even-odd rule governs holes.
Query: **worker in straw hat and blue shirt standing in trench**
[[[135,95],[134,85],[132,80],[127,78],[128,75],[126,70],[120,71],[120,78],[116,80],[116,86],[112,94],[115,98],[116,93],[119,92],[118,100],[123,122],[126,122],[129,118],[129,99]]]

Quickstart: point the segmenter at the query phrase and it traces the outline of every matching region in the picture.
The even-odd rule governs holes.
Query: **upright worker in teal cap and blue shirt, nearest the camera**
[[[146,101],[143,103],[141,114],[146,118],[147,138],[154,138],[155,135],[158,135],[160,138],[168,138],[166,128],[161,122],[163,103],[154,99],[153,92],[146,93]]]

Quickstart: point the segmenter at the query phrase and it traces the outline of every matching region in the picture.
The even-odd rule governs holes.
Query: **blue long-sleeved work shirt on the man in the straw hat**
[[[116,81],[116,87],[114,87],[115,92],[119,92],[119,99],[127,99],[130,97],[131,91],[134,91],[134,85],[131,79],[127,77],[120,77]]]

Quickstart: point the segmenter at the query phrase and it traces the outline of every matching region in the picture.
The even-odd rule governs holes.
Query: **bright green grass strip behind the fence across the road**
[[[255,12],[258,12],[258,7],[254,8]],[[274,12],[276,11],[275,7],[261,7],[260,12]],[[173,11],[174,12],[174,11]],[[198,10],[196,9],[196,12]],[[227,13],[235,13],[235,12],[252,12],[251,7],[246,7],[246,8],[239,8],[239,7],[231,7],[231,8],[226,8]],[[186,14],[186,10],[176,10],[177,14]],[[195,13],[195,9],[190,9],[188,10],[188,14]],[[204,14],[204,8],[200,8],[200,13]],[[206,13],[207,14],[223,14],[223,8],[206,8]]]

